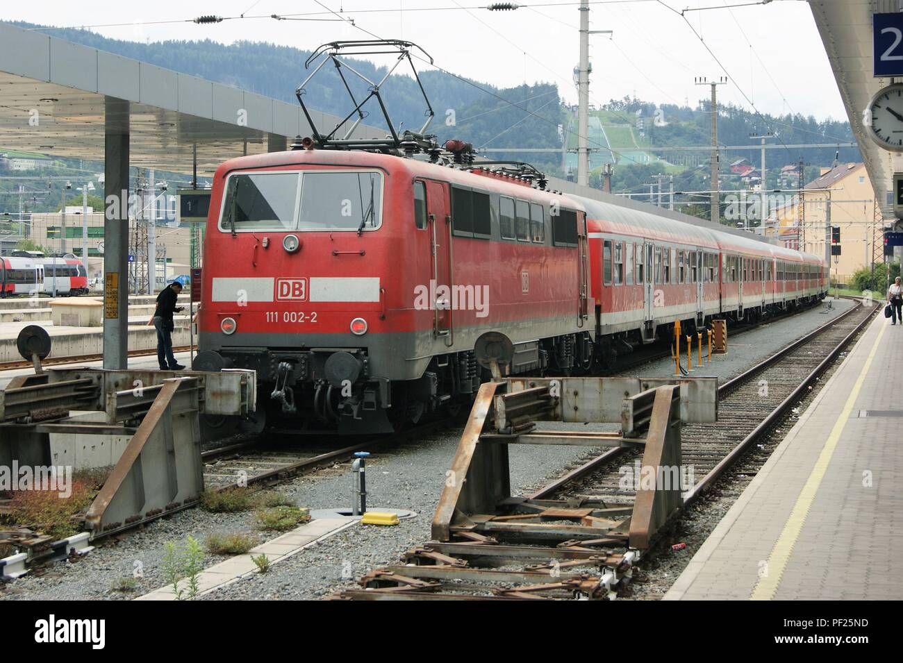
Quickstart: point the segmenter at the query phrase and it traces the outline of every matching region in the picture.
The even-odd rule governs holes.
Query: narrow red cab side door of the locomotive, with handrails
[[[448,185],[427,180],[427,232],[430,234],[433,273],[430,297],[433,298],[433,335],[445,336],[452,345],[452,214]],[[440,288],[444,286],[444,288]]]

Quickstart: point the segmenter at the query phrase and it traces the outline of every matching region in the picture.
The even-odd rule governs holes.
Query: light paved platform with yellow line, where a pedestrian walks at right
[[[875,318],[665,600],[903,599],[903,326]]]

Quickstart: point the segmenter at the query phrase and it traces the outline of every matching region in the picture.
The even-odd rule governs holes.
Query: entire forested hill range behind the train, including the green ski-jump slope
[[[14,23],[22,27],[40,27],[30,23]],[[51,34],[76,41],[103,51],[143,60],[183,73],[207,78],[226,85],[240,87],[266,97],[296,104],[294,90],[309,74],[304,60],[309,51],[277,46],[259,41],[239,41],[221,44],[216,41],[120,41],[108,39],[87,30],[61,29]],[[307,44],[315,46],[316,38]],[[382,64],[382,63],[380,63]],[[390,62],[386,61],[386,64]],[[431,69],[421,60],[414,60],[427,95],[435,112],[430,131],[440,141],[461,138],[476,147],[491,148],[556,148],[563,144],[576,147],[576,116],[573,108],[563,106],[557,86],[540,83],[534,86],[498,88],[481,81],[472,81]],[[452,68],[447,62],[437,64]],[[371,80],[385,74],[372,62],[353,60],[353,66]],[[406,67],[406,64],[404,65]],[[404,67],[399,67],[403,70]],[[366,94],[366,85],[349,75],[358,98]],[[396,128],[419,129],[424,124],[424,99],[414,78],[395,75],[383,87],[386,106]],[[600,96],[600,91],[595,93]],[[333,115],[347,115],[352,105],[335,70],[324,67],[307,86],[305,102],[312,108]],[[371,102],[367,124],[385,128],[378,108]],[[656,117],[660,122],[656,122]],[[649,172],[674,172],[681,168],[701,168],[708,159],[707,152],[656,152],[656,147],[701,146],[709,143],[707,102],[700,108],[663,105],[636,98],[612,99],[595,108],[591,115],[590,139],[593,152],[593,183],[598,183],[605,161],[616,164],[615,184],[631,187],[633,180],[642,182]],[[331,127],[330,127],[331,128]],[[719,142],[726,145],[758,144],[750,134],[775,131],[776,144],[844,143],[852,141],[850,124],[845,119],[816,120],[814,117],[786,114],[759,116],[747,110],[722,106],[719,109]],[[3,145],[0,145],[0,149]],[[769,170],[803,157],[816,169],[830,165],[836,149],[774,150],[769,157]],[[512,159],[534,162],[552,174],[563,174],[573,167],[575,154],[565,158],[561,152],[505,153],[492,152],[491,159]],[[724,158],[726,157],[726,159]],[[734,159],[746,157],[758,163],[756,152],[740,151],[722,156],[723,168]],[[841,161],[861,159],[855,148],[842,150]],[[669,161],[664,163],[658,161]]]

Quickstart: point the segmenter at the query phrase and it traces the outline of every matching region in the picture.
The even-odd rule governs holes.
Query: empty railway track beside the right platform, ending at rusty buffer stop
[[[728,490],[737,494],[742,491],[776,446],[757,447],[759,441],[813,389],[819,376],[877,309],[864,305],[851,308],[721,385],[718,421],[681,429],[681,462],[693,468],[694,480],[684,493],[684,508],[712,490],[735,465],[741,471],[731,471],[730,478],[741,482]],[[612,517],[629,514],[636,492],[625,488],[620,468],[634,465],[641,454],[641,450],[629,447],[610,449],[546,484],[527,500],[592,504],[597,510],[609,511]],[[644,554],[654,555],[654,549],[655,542]],[[502,540],[501,536],[458,537],[412,548],[400,564],[379,567],[363,576],[359,581],[362,589],[345,590],[330,598],[614,598],[619,586],[624,586],[619,583],[629,582],[638,558],[638,551],[619,546],[617,538],[597,543],[566,541],[550,548]]]

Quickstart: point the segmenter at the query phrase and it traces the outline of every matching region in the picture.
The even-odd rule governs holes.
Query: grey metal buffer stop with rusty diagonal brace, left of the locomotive
[[[15,377],[0,391],[0,465],[30,467],[41,476],[63,458],[63,465],[72,463],[82,444],[75,436],[99,436],[98,445],[126,437],[85,514],[92,537],[191,506],[204,489],[200,415],[245,417],[256,410],[254,371],[44,372],[40,360],[49,339],[35,338],[20,344],[23,355],[31,351],[35,374]],[[72,410],[102,413],[102,420],[73,417]],[[54,434],[70,436],[56,454]]]

